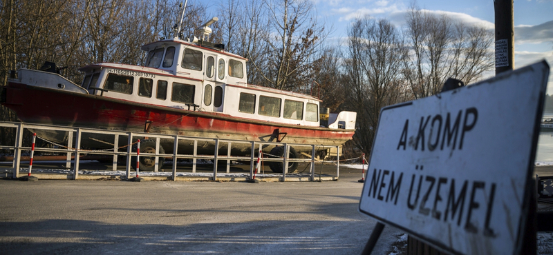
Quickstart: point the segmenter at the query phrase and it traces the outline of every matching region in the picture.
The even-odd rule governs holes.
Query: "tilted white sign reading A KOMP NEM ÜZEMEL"
[[[518,254],[549,70],[382,108],[359,211],[453,254]]]

